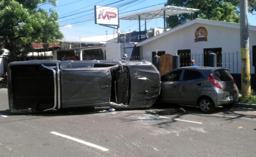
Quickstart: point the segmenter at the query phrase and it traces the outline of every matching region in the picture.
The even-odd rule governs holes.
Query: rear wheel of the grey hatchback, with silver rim
[[[198,101],[198,106],[201,112],[204,112],[204,113],[211,113],[215,109],[214,103],[210,98],[207,98],[207,97],[200,98],[200,100]]]

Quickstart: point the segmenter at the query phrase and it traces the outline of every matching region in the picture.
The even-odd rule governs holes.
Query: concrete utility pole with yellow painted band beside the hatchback
[[[241,94],[243,97],[251,94],[247,9],[247,0],[240,0]]]

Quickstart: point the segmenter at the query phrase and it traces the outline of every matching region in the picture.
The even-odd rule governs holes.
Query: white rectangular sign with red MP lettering
[[[95,24],[118,25],[118,8],[94,6]]]

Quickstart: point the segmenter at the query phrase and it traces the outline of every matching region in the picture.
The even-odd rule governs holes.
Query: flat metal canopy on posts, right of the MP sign
[[[141,11],[134,14],[128,14],[119,17],[121,20],[139,20],[139,29],[140,29],[140,20],[145,20],[145,30],[146,30],[146,20],[151,20],[159,17],[163,17],[164,19],[164,29],[166,29],[166,24],[168,22],[166,20],[166,16],[174,16],[178,14],[188,14],[199,11],[199,9],[194,8],[183,8],[177,6],[164,6],[160,8],[154,8],[147,11]]]

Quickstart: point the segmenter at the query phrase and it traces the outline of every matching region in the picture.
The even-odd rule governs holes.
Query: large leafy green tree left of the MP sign
[[[63,38],[58,13],[38,7],[57,0],[0,0],[0,47],[9,50],[10,61],[31,50],[31,42],[56,42]]]

